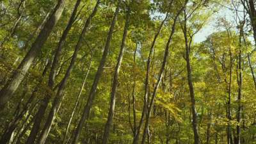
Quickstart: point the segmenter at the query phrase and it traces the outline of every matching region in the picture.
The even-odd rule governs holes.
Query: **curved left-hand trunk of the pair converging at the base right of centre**
[[[154,40],[152,42],[152,45],[150,47],[150,52],[149,52],[149,55],[148,55],[148,61],[147,61],[147,76],[146,76],[146,81],[145,81],[145,93],[144,93],[144,106],[143,106],[143,110],[142,110],[142,115],[141,115],[141,119],[140,119],[140,124],[138,126],[138,129],[137,129],[137,134],[136,134],[136,138],[133,140],[133,144],[138,144],[138,141],[139,141],[139,138],[140,138],[140,131],[141,131],[141,127],[143,125],[143,122],[144,122],[144,117],[145,117],[145,113],[147,112],[147,100],[148,100],[148,78],[149,78],[149,71],[150,71],[150,61],[151,61],[151,55],[152,55],[152,52],[153,52],[153,49],[154,49],[154,45],[156,44],[156,39],[157,39],[157,36],[159,35],[162,27],[163,27],[163,24],[165,22],[165,20],[167,19],[168,15],[169,15],[169,11],[170,11],[170,8],[172,6],[172,3],[173,1],[171,1],[170,3],[170,7],[169,7],[169,10],[168,12],[166,13],[166,17],[164,18],[164,20],[161,22],[161,26],[159,28],[159,30],[157,31],[156,35],[154,36]],[[136,131],[136,129],[134,129],[134,131]],[[136,132],[135,132],[136,133]]]

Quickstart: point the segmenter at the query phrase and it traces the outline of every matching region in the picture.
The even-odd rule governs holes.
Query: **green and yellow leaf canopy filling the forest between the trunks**
[[[0,1],[0,88],[3,88],[13,70],[17,68],[20,60],[26,55],[28,48],[23,49],[22,47],[24,47],[29,36],[40,24],[42,17],[44,17],[52,2],[50,0]],[[15,136],[18,137],[29,122],[33,120],[33,117],[35,117],[44,95],[51,93],[51,100],[54,99],[56,90],[51,90],[47,86],[51,65],[45,76],[42,76],[42,72],[47,63],[51,63],[54,57],[60,36],[63,33],[63,29],[67,26],[75,3],[76,1],[68,1],[58,24],[54,27],[42,51],[36,57],[29,72],[14,93],[14,98],[8,102],[3,111],[0,111],[0,136],[4,134],[8,125],[12,124],[15,116],[20,113],[35,88],[38,89],[36,97],[28,112],[15,129],[14,137],[12,138],[14,142],[17,141]],[[85,20],[92,13],[95,3],[96,1],[83,0],[78,8],[78,12],[80,12],[77,12],[77,18],[72,25],[70,33],[68,33],[63,52],[60,56],[55,79],[56,84],[60,83],[65,75],[79,34],[83,29]],[[122,43],[122,31],[129,3],[131,3],[131,0],[122,1],[121,3],[104,71],[95,92],[95,100],[93,101],[90,118],[84,124],[79,140],[80,143],[84,143],[84,141],[86,143],[101,143],[102,141],[104,125],[108,118],[115,65]],[[148,54],[153,38],[166,12],[169,10],[170,3],[171,1],[166,0],[139,0],[134,1],[131,6],[131,20],[129,22],[125,53],[118,78],[115,116],[109,134],[109,143],[132,143],[133,141],[134,112],[132,90],[134,88],[135,122],[138,127],[144,103]],[[255,42],[250,42],[251,39],[249,38],[253,30],[248,15],[237,16],[237,14],[236,16],[239,17],[239,20],[230,18],[234,22],[228,22],[225,18],[218,16],[218,11],[225,9],[225,7],[235,9],[234,6],[237,6],[236,4],[240,2],[232,3],[235,2],[222,3],[218,1],[196,0],[189,1],[186,6],[188,38],[189,41],[191,40],[191,72],[198,116],[198,131],[202,143],[216,143],[216,141],[218,143],[227,143],[228,125],[232,129],[233,141],[236,139],[237,125],[241,126],[241,143],[255,143],[256,141],[256,86],[248,62],[248,56],[250,56],[252,69],[255,72],[256,56],[255,47],[252,45]],[[86,79],[67,135],[66,141],[72,141],[74,129],[76,129],[81,118],[97,67],[101,61],[116,4],[117,1],[113,0],[101,1],[99,10],[95,17],[93,17],[90,27],[83,38],[84,40],[78,52],[74,70],[65,86],[64,98],[61,100],[60,109],[45,143],[61,143],[63,140],[63,134],[65,133],[72,108],[90,64],[92,50],[93,61],[90,73]],[[174,0],[172,4],[168,19],[156,40],[151,57],[148,105],[159,77],[159,70],[163,62],[164,51],[170,36],[173,19],[179,8],[184,4],[184,1]],[[220,4],[225,7],[221,7]],[[21,13],[22,17],[17,23],[15,31],[12,31],[22,9],[24,9],[24,12]],[[216,15],[218,19],[214,21],[212,17]],[[196,35],[204,26],[209,24],[216,26],[218,31],[212,32],[204,42],[194,43],[193,34]],[[186,55],[184,54],[185,40],[181,28],[181,26],[184,26],[184,12],[181,13],[176,25],[175,35],[173,35],[166,67],[164,68],[163,79],[157,91],[152,118],[150,118],[148,127],[147,141],[150,141],[150,143],[166,143],[166,141],[168,143],[193,143],[194,141],[191,100],[186,60],[184,60]],[[36,35],[29,45],[33,43]],[[240,51],[242,70],[237,66]],[[232,83],[229,83],[230,69],[232,69]],[[237,79],[240,72],[243,74],[242,97],[241,100],[237,100],[239,90]],[[230,106],[228,104],[229,85],[231,89]],[[36,103],[38,104],[35,106]],[[237,122],[239,104],[242,106],[240,123]],[[33,106],[35,106],[34,110]],[[229,108],[231,120],[228,120],[227,117]],[[44,126],[50,109],[51,104],[49,104],[45,112],[41,128]],[[29,113],[31,114],[29,115]],[[28,119],[26,119],[27,117]],[[28,131],[21,137],[20,143],[26,142],[31,127],[30,125]]]

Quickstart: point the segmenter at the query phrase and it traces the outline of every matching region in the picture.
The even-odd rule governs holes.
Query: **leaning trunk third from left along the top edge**
[[[88,19],[86,20],[86,23],[84,25],[84,28],[83,28],[83,31],[79,37],[79,40],[77,41],[77,44],[76,44],[76,49],[74,51],[74,54],[72,56],[72,60],[70,61],[70,65],[68,67],[68,70],[60,84],[60,87],[58,89],[58,92],[56,94],[56,97],[53,101],[53,104],[52,104],[52,108],[51,108],[51,111],[49,113],[49,116],[45,122],[45,125],[44,125],[44,128],[38,138],[38,141],[36,143],[44,143],[48,134],[49,134],[49,131],[51,130],[51,125],[52,125],[52,122],[54,121],[54,118],[55,118],[55,115],[56,115],[56,111],[57,111],[57,108],[58,108],[58,104],[59,104],[59,101],[60,101],[60,98],[61,96],[63,95],[63,90],[65,88],[65,85],[67,84],[67,80],[73,70],[73,67],[74,67],[74,64],[75,64],[75,61],[76,61],[76,57],[77,57],[77,53],[80,49],[80,45],[81,45],[81,42],[83,41],[83,38],[84,38],[84,34],[86,33],[87,29],[88,29],[88,26],[90,24],[90,21],[92,20],[93,16],[95,15],[95,13],[97,12],[97,8],[99,6],[99,3],[100,3],[100,0],[97,1],[96,5],[95,5],[95,8],[92,12],[92,14],[88,17]]]

